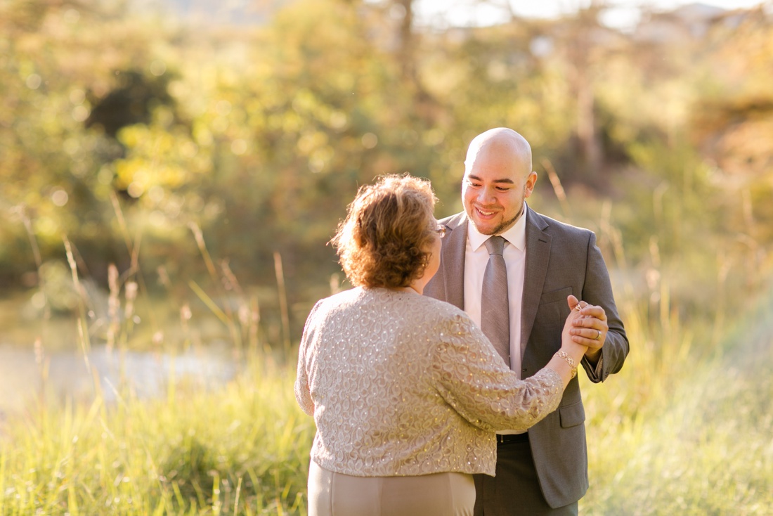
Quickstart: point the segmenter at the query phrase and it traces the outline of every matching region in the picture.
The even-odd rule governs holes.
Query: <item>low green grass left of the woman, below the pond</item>
[[[6,421],[0,514],[305,514],[314,425],[263,353],[222,388],[124,389]]]

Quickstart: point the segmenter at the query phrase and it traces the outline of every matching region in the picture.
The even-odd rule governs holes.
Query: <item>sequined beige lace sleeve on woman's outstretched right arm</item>
[[[481,429],[525,430],[558,407],[560,375],[543,369],[519,380],[467,316],[438,328],[433,361],[438,391],[459,414]]]

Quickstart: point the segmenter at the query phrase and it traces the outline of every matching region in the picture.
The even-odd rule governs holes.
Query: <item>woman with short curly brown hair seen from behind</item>
[[[587,349],[573,321],[596,307],[570,296],[561,351],[519,380],[464,312],[422,296],[440,264],[435,201],[424,179],[384,176],[332,239],[355,288],[317,302],[298,352],[295,397],[317,426],[310,516],[472,514],[495,431],[553,412]]]

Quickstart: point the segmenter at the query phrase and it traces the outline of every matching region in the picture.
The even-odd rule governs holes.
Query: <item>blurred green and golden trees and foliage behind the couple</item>
[[[533,206],[597,231],[642,302],[669,275],[673,306],[742,299],[769,270],[763,10],[642,39],[604,28],[603,3],[443,30],[406,5],[298,0],[223,26],[109,0],[0,3],[0,282],[37,288],[66,236],[103,288],[111,263],[124,281],[145,271],[143,289],[157,270],[187,285],[212,273],[191,259],[205,243],[255,288],[280,253],[291,304],[308,302],[339,272],[325,243],[359,185],[425,176],[451,214],[466,145],[500,125],[533,145]]]

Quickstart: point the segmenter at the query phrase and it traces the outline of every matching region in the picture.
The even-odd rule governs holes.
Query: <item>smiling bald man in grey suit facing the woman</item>
[[[441,268],[424,295],[451,302],[481,324],[489,262],[485,241],[502,236],[508,365],[528,378],[550,361],[561,345],[566,299],[572,294],[604,309],[604,316],[584,329],[594,345],[582,367],[598,383],[620,371],[628,355],[609,273],[592,231],[537,214],[526,205],[536,179],[529,142],[517,132],[495,128],[472,140],[461,187],[465,211],[440,221],[446,227]],[[588,487],[584,421],[574,378],[556,412],[528,432],[498,433],[496,476],[475,476],[476,516],[577,514],[577,501]]]

